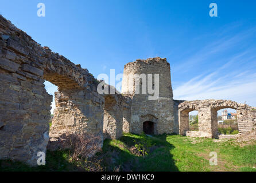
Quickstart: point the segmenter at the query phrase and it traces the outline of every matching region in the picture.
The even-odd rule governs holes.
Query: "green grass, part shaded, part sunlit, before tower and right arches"
[[[256,170],[253,168],[256,166],[256,145],[240,147],[235,145],[232,140],[214,142],[208,138],[161,135],[152,138],[153,144],[156,144],[157,147],[143,158],[135,156],[129,151],[129,148],[134,146],[133,140],[139,140],[139,138],[141,136],[128,133],[119,140],[104,141],[103,153],[107,153],[107,158],[112,160],[111,166],[108,164],[110,166],[108,170],[118,165],[121,165],[121,170],[132,171]],[[210,165],[210,152],[218,153],[218,165]]]

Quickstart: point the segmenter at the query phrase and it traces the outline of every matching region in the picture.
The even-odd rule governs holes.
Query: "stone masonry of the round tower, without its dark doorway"
[[[146,60],[138,59],[135,62],[130,62],[125,65],[123,71],[122,93],[130,94],[131,102],[131,121],[130,131],[133,133],[143,132],[143,122],[146,118],[151,117],[149,120],[154,122],[154,130],[156,134],[173,133],[174,115],[173,115],[173,94],[170,82],[170,65],[166,59],[162,58],[149,58]],[[140,82],[140,94],[135,93],[135,80],[130,81],[129,74],[159,74],[159,97],[157,100],[149,100],[152,94],[146,91],[142,94],[141,86],[143,80]],[[148,81],[148,75],[147,81]],[[154,87],[154,77],[153,77]]]

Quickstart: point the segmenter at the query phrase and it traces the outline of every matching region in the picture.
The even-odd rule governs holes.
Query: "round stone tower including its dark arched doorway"
[[[170,64],[166,58],[137,59],[125,65],[122,93],[131,97],[130,132],[176,132]]]

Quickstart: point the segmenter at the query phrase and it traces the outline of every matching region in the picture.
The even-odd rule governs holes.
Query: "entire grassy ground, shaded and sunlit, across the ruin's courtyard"
[[[148,137],[150,138],[150,137]],[[119,140],[105,140],[102,152],[91,161],[71,161],[70,152],[47,152],[46,165],[29,168],[0,161],[0,171],[255,171],[256,143],[238,146],[234,140],[215,142],[207,138],[161,135],[150,138],[148,155],[139,156],[135,144],[142,136],[124,134]],[[136,143],[134,142],[136,141]],[[210,152],[218,153],[218,165],[209,163]]]

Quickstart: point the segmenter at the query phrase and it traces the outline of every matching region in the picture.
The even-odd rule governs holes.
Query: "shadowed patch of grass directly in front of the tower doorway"
[[[119,168],[120,171],[150,171],[150,172],[177,172],[173,155],[170,150],[175,148],[166,141],[166,134],[149,137],[154,146],[148,155],[142,157],[131,152],[134,148],[134,140],[139,141],[141,136],[136,134],[125,134],[119,140],[105,140],[103,145],[104,166],[107,170]]]

